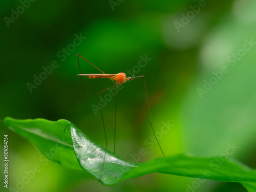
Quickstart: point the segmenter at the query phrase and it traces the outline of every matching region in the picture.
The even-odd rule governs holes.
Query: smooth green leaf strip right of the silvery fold
[[[216,158],[190,157],[183,154],[158,158],[140,164],[139,167],[124,175],[122,180],[158,172],[215,181],[252,182],[256,184],[255,169],[231,158],[218,164]]]

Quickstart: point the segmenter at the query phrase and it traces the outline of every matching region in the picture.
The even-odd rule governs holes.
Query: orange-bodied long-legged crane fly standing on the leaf
[[[83,94],[84,94],[84,98],[86,99],[86,91],[84,90],[84,86],[83,86],[83,79],[82,77],[83,76],[87,76],[88,78],[90,79],[94,79],[94,78],[109,78],[111,79],[114,83],[115,83],[115,86],[112,86],[110,88],[107,88],[107,89],[104,89],[103,91],[100,91],[98,92],[98,98],[99,98],[99,106],[100,106],[100,113],[101,113],[101,118],[102,118],[102,123],[103,123],[103,129],[104,129],[104,135],[105,135],[105,141],[106,141],[106,147],[105,147],[105,154],[104,154],[104,159],[103,159],[103,164],[102,164],[102,169],[101,169],[101,173],[100,173],[100,177],[101,177],[101,174],[102,174],[102,171],[103,171],[103,167],[104,167],[104,162],[105,162],[105,155],[106,155],[106,148],[108,146],[108,141],[106,139],[106,131],[105,131],[105,125],[104,125],[104,120],[103,120],[103,114],[102,114],[102,108],[101,108],[101,104],[100,104],[100,94],[103,93],[104,91],[106,90],[109,90],[111,88],[114,88],[114,87],[118,87],[120,86],[122,83],[125,83],[126,81],[132,81],[133,79],[135,78],[139,78],[139,77],[143,77],[144,79],[144,88],[145,88],[145,93],[146,93],[146,101],[147,101],[147,111],[148,111],[148,118],[150,120],[150,124],[151,124],[151,127],[152,127],[152,130],[153,130],[153,133],[155,135],[155,138],[158,142],[158,139],[156,137],[156,134],[155,134],[155,131],[153,129],[153,126],[152,126],[152,123],[151,123],[151,117],[150,117],[150,107],[149,107],[149,104],[148,104],[148,98],[147,98],[147,92],[146,92],[146,82],[145,82],[145,77],[144,75],[141,75],[141,76],[137,76],[137,77],[134,77],[134,74],[132,77],[126,77],[125,73],[117,73],[117,74],[105,74],[103,71],[101,71],[99,68],[97,68],[95,65],[93,65],[96,69],[98,69],[101,73],[100,74],[82,74],[81,73],[81,68],[80,68],[80,62],[79,62],[79,57],[83,58],[84,60],[88,61],[91,65],[93,65],[93,63],[91,63],[89,60],[87,60],[86,58],[82,57],[80,54],[77,54],[77,59],[78,59],[78,65],[79,65],[79,70],[80,70],[80,74],[78,74],[78,76],[81,76],[81,81],[82,81],[82,87],[83,87]],[[135,72],[135,71],[134,71]],[[116,98],[116,95],[117,95],[117,89],[116,89],[116,94],[115,94],[115,98]],[[86,99],[86,104],[87,104],[87,99]],[[116,108],[117,108],[117,99],[116,99],[116,106],[115,106],[115,127],[114,127],[114,154],[115,154],[115,149],[116,149]],[[68,126],[67,126],[68,127]],[[67,128],[66,127],[66,128]],[[66,129],[65,128],[65,129]],[[162,151],[162,148],[158,142],[158,145],[160,147],[160,150],[164,156],[164,153]],[[99,179],[100,179],[99,177]]]

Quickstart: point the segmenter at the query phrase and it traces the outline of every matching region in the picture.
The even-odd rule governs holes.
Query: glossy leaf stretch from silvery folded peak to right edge
[[[155,172],[216,181],[240,182],[250,187],[256,184],[256,170],[234,159],[221,161],[219,157],[189,157],[183,154],[135,164],[122,160],[107,150],[101,174],[105,148],[91,141],[75,127],[71,127],[71,136],[81,167],[106,185],[114,185],[125,179]],[[216,160],[217,158],[218,160]]]

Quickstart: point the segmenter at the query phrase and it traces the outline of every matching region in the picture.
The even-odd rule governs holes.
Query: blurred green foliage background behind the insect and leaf
[[[101,116],[92,105],[98,104],[97,93],[113,83],[84,78],[88,104],[80,112],[79,53],[105,73],[136,69],[136,75],[145,75],[155,131],[163,123],[174,125],[159,139],[166,155],[220,156],[234,143],[239,148],[231,157],[256,168],[255,9],[253,0],[3,1],[0,118],[68,119],[104,146]],[[83,38],[74,46],[77,36]],[[152,60],[135,67],[145,55]],[[34,84],[42,67],[54,61],[52,73],[42,74],[45,79],[29,90],[28,83]],[[82,73],[99,73],[80,62]],[[223,66],[228,72],[220,74]],[[113,151],[115,99],[107,103],[103,115]],[[151,149],[145,144],[153,133],[143,79],[125,83],[117,103],[116,154],[129,160],[144,148],[139,162],[161,157],[156,144]],[[34,165],[41,168],[19,191],[190,191],[196,181],[151,174],[102,186],[86,172],[42,161],[31,143],[0,126],[2,137],[9,137],[9,186],[16,188]],[[207,180],[195,191],[246,190]]]

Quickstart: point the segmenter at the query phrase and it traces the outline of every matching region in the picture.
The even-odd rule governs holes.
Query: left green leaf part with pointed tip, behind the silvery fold
[[[63,133],[69,124],[69,121],[62,119],[56,122],[46,119],[4,119],[5,126],[35,144],[41,154],[48,159],[81,170],[74,154],[71,135],[69,131]]]

